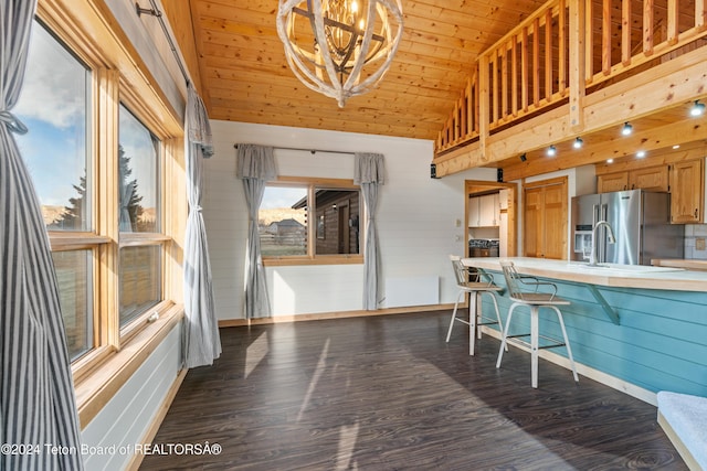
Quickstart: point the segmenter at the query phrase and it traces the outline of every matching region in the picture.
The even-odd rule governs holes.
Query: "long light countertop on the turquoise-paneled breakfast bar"
[[[707,291],[707,271],[690,271],[674,267],[614,265],[588,267],[587,264],[545,258],[508,257],[524,275],[555,278],[615,288],[666,289],[674,291]],[[468,267],[500,271],[498,257],[463,258]],[[707,267],[706,267],[707,268]]]

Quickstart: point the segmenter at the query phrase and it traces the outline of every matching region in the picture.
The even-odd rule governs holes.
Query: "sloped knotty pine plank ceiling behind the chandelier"
[[[212,119],[435,139],[477,55],[544,0],[403,0],[404,32],[378,89],[309,90],[277,36],[276,0],[162,2]]]

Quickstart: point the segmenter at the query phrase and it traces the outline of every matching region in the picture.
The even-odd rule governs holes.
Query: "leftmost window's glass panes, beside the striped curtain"
[[[62,239],[95,229],[89,157],[91,72],[41,24],[32,28],[28,67],[15,113],[30,129],[18,144],[42,205],[44,223]],[[85,238],[85,237],[84,237]],[[53,253],[68,352],[94,347],[94,248],[64,244]]]

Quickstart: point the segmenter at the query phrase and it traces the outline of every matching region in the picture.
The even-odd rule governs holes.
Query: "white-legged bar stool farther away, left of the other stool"
[[[478,339],[482,338],[482,331],[478,329],[481,325],[498,324],[498,329],[500,331],[504,329],[500,321],[500,313],[498,312],[496,295],[494,295],[495,291],[500,291],[503,288],[494,285],[494,277],[481,268],[475,268],[476,274],[473,274],[474,281],[469,281],[468,268],[462,265],[462,259],[456,255],[450,255],[450,260],[452,260],[452,268],[454,269],[454,277],[456,278],[456,286],[460,289],[460,293],[457,295],[456,302],[454,303],[454,311],[452,311],[452,320],[450,321],[450,329],[446,332],[446,341],[449,342],[452,336],[454,321],[468,325],[468,354],[473,355],[476,336],[478,335]],[[456,317],[456,310],[460,306],[460,301],[466,293],[472,295],[468,304],[468,322]],[[496,319],[484,317],[481,309],[481,297],[484,293],[488,295],[494,301]]]

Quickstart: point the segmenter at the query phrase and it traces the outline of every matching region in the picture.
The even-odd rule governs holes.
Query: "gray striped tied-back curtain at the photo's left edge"
[[[81,470],[80,426],[56,274],[34,186],[12,132],[36,0],[0,3],[0,453],[3,470]],[[44,443],[73,453],[46,452]],[[36,448],[34,448],[36,447]]]

